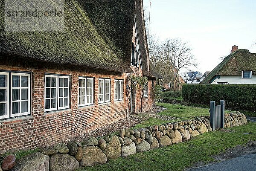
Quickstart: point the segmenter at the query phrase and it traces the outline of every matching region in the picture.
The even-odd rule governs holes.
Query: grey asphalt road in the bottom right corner
[[[239,156],[189,171],[256,171],[256,154]]]

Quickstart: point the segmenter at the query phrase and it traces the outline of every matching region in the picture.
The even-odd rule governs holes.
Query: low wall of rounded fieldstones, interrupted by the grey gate
[[[234,126],[242,125],[247,120],[242,113],[229,113],[225,121],[227,126],[231,123]],[[101,138],[90,136],[81,143],[70,141],[41,147],[40,152],[29,154],[17,162],[14,155],[8,155],[0,171],[74,171],[83,166],[104,164],[108,159],[187,141],[208,131],[212,131],[209,116],[137,130],[121,129],[118,135]]]

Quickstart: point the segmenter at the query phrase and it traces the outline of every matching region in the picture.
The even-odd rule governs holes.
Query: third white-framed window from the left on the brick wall
[[[78,106],[93,104],[93,78],[79,77]]]

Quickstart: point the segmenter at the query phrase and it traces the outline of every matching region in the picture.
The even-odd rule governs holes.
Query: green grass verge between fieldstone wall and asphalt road
[[[125,158],[119,157],[106,164],[79,168],[77,171],[181,171],[196,162],[212,162],[214,161],[212,155],[223,153],[227,148],[256,140],[256,123],[231,129],[235,131],[204,133],[187,142],[137,153]]]

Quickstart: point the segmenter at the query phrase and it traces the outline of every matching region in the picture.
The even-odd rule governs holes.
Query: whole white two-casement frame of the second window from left
[[[46,98],[46,77],[56,78],[56,97],[52,98],[52,90],[50,91],[50,98]],[[63,97],[60,97],[59,92],[59,79],[60,78],[67,78],[67,87],[61,87],[61,88],[67,88],[67,96],[64,97],[64,90],[63,90]],[[51,86],[52,86],[52,79],[51,79]],[[63,79],[63,86],[64,86],[64,79]],[[49,87],[48,87],[49,88]],[[52,87],[50,87],[52,88]],[[64,98],[67,98],[67,106],[59,107],[59,99],[63,98],[63,104],[64,104]],[[45,109],[46,107],[46,99],[56,99],[56,107],[55,108],[49,108]],[[51,100],[50,100],[50,107],[51,107]],[[53,75],[53,74],[44,74],[44,112],[54,111],[54,110],[62,110],[62,109],[69,109],[70,108],[70,75]]]

